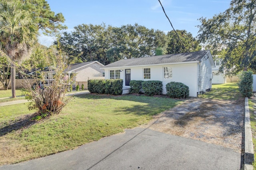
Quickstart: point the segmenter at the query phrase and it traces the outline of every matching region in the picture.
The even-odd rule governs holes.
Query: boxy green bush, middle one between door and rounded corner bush
[[[163,83],[162,81],[143,81],[142,90],[145,95],[162,95],[163,94]]]

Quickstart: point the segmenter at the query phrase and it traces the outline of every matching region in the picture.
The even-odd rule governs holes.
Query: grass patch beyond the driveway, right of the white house
[[[225,83],[212,85],[212,91],[198,95],[203,99],[216,99],[216,100],[238,100],[241,94],[238,91],[237,83]]]

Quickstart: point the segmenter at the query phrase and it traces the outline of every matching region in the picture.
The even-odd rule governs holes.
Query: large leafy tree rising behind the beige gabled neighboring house
[[[74,32],[64,32],[58,40],[62,50],[70,57],[70,62],[79,57],[83,62],[99,60],[102,52],[108,49],[105,24],[82,24],[74,27]],[[54,44],[57,45],[57,41]]]

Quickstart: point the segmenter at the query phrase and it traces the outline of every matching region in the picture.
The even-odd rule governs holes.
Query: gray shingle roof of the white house
[[[189,53],[178,53],[178,54],[167,54],[167,55],[155,55],[152,57],[121,59],[114,63],[110,63],[103,68],[200,61],[200,59],[202,59],[204,55],[206,55],[208,52],[209,50],[190,52],[190,54],[194,58],[191,57]]]

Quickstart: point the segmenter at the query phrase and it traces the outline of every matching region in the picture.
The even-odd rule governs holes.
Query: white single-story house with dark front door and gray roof
[[[105,79],[123,79],[124,88],[130,87],[130,80],[159,80],[163,82],[163,94],[166,94],[166,84],[176,81],[189,87],[191,97],[197,97],[198,93],[212,88],[215,65],[210,50],[190,54],[122,59],[103,67]]]

